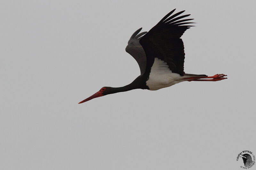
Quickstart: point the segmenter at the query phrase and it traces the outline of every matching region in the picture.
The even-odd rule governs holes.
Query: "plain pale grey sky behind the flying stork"
[[[0,169],[241,169],[256,153],[255,1],[0,3]],[[186,10],[185,72],[228,74],[93,99],[140,70],[134,31]],[[253,166],[252,169],[256,169]]]

